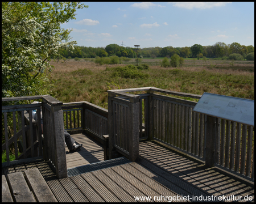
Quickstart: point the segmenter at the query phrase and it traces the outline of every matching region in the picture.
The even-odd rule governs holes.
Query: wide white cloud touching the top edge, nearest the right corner
[[[193,9],[193,8],[213,8],[213,7],[221,7],[226,6],[227,3],[232,2],[169,2],[172,3],[173,6],[179,7],[179,8],[187,8],[187,9]]]

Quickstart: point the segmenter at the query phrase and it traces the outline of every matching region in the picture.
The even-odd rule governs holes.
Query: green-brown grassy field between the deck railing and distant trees
[[[181,68],[161,67],[161,61],[158,58],[142,59],[150,69],[139,70],[144,78],[133,79],[119,76],[113,73],[113,69],[135,65],[135,59],[121,65],[96,65],[84,59],[51,61],[55,66],[49,76],[55,85],[53,96],[64,103],[89,101],[108,108],[107,90],[152,86],[191,94],[210,92],[254,100],[254,61],[187,59]]]

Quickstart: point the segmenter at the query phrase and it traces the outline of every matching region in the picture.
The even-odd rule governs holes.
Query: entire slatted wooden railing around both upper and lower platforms
[[[146,94],[134,95],[127,92]],[[30,120],[33,109],[38,110],[40,117],[40,104],[2,107],[6,138],[2,152],[6,150],[9,159],[9,148],[13,143],[16,159],[42,156],[43,150],[44,159],[51,160],[59,177],[63,177],[67,168],[61,162],[65,160],[64,133],[61,130],[65,128],[73,133],[79,131],[89,134],[102,143],[105,139],[105,145],[108,141],[109,159],[114,158],[114,152],[117,151],[135,161],[139,156],[139,141],[155,140],[202,160],[206,166],[215,165],[254,180],[254,126],[193,112],[197,102],[167,96],[200,99],[201,95],[154,87],[109,90],[108,93],[109,110],[86,101],[62,104],[48,95],[2,98],[2,101],[43,99],[44,126],[42,148],[40,123],[37,124],[35,137],[35,130],[31,128],[35,121]],[[28,119],[24,120],[26,114]],[[14,121],[13,135],[8,131],[9,121]],[[214,125],[209,134],[207,129],[210,129],[210,124]],[[18,144],[22,147],[20,156]]]

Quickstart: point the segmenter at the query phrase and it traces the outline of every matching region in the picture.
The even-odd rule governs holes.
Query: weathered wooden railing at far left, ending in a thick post
[[[5,131],[2,154],[6,150],[7,162],[10,161],[9,150],[11,148],[14,149],[16,160],[43,156],[44,160],[49,160],[52,163],[58,178],[67,177],[62,102],[49,95],[2,98],[2,101],[20,100],[43,101],[40,104],[2,106]],[[34,109],[37,110],[38,118],[41,117],[41,108],[43,112],[43,135],[41,120],[38,120],[35,127],[35,125],[33,126],[35,121],[32,118],[32,110]],[[9,116],[7,116],[8,113]],[[18,154],[20,155],[18,156]]]

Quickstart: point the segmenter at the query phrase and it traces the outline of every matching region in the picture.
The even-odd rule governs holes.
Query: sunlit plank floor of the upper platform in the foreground
[[[59,202],[135,202],[135,198],[139,202],[168,202],[175,197],[180,202],[187,202],[188,198],[198,202],[196,199],[200,197],[209,202],[212,196],[241,196],[241,202],[245,202],[245,196],[251,196],[254,202],[254,188],[240,181],[204,169],[201,164],[153,142],[140,143],[139,148],[138,162],[65,179],[57,179],[48,163],[42,160],[2,168],[2,174],[38,168]]]

